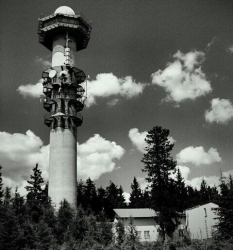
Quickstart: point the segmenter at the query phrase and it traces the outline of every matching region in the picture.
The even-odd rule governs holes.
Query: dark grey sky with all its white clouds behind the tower
[[[222,0],[3,0],[0,3],[0,164],[25,194],[36,163],[48,179],[49,128],[40,102],[51,52],[38,18],[60,6],[92,22],[76,67],[89,75],[78,128],[78,180],[129,193],[142,172],[147,131],[170,130],[186,184],[233,173],[233,2]],[[65,167],[65,166],[64,166]]]

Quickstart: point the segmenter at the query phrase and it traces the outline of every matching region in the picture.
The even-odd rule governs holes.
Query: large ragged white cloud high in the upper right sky
[[[183,54],[178,51],[173,55],[175,61],[169,63],[164,70],[152,74],[152,83],[167,92],[166,101],[180,103],[184,100],[195,100],[212,91],[209,81],[200,65],[205,60],[201,51]]]

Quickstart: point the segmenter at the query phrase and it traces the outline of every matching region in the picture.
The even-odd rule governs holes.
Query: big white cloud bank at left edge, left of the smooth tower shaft
[[[44,178],[48,177],[49,146],[32,131],[26,134],[0,132],[0,159],[3,175],[21,186],[21,182],[30,176],[30,171],[39,164]]]

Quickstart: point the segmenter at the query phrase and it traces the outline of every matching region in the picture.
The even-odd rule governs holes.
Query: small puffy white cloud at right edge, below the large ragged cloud
[[[229,100],[214,98],[210,103],[210,109],[205,111],[207,122],[227,124],[233,118],[233,105]]]

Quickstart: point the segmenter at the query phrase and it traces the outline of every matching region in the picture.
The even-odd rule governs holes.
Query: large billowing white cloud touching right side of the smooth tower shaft
[[[95,134],[77,147],[77,171],[79,177],[92,180],[98,179],[102,174],[115,169],[114,160],[119,160],[124,154],[124,149]]]

